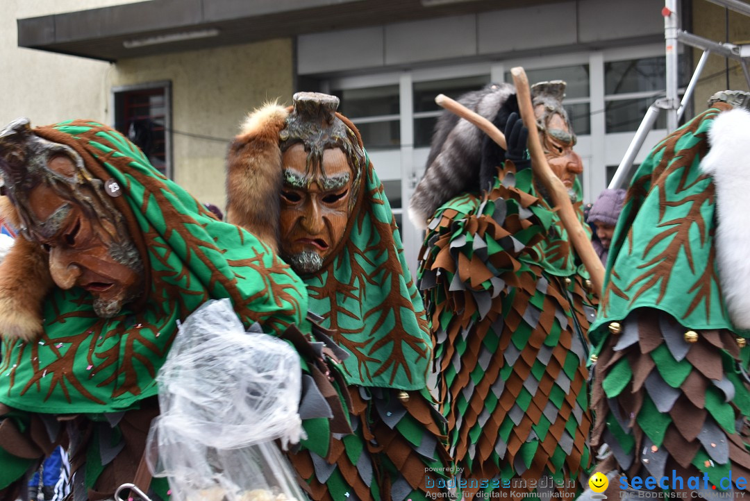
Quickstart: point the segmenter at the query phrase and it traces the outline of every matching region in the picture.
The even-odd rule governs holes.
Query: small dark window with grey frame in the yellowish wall
[[[115,129],[140,148],[151,165],[169,175],[169,88],[115,91]]]

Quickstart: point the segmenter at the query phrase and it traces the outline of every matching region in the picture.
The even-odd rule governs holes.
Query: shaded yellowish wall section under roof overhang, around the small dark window
[[[229,140],[252,109],[268,100],[291,101],[292,40],[124,59],[113,67],[104,88],[109,93],[165,80],[172,84],[173,178],[200,201],[223,210]],[[114,121],[112,110],[107,121]]]

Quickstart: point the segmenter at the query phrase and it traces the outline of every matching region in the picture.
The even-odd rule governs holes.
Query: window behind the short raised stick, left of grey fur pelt
[[[443,112],[443,109],[435,103],[437,94],[445,94],[457,99],[461,94],[478,91],[488,83],[490,83],[489,75],[416,82],[413,86],[414,146],[416,148],[430,146],[437,118]]]

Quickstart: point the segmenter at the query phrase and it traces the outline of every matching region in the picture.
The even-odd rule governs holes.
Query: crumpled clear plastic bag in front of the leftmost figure
[[[245,333],[229,300],[209,301],[179,328],[157,374],[161,413],[148,466],[176,500],[302,501],[273,440],[302,438],[299,353]]]

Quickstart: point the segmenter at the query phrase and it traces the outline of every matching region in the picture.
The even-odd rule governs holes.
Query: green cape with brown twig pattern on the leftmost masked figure
[[[138,409],[157,394],[154,377],[177,333],[177,322],[208,299],[228,297],[246,326],[258,321],[267,332],[303,324],[307,293],[291,268],[248,231],[217,221],[121,134],[92,121],[64,122],[34,132],[74,148],[95,177],[121,186],[122,195],[112,201],[126,217],[140,251],[145,291],[138,303],[103,319],[95,315],[87,291],[54,288],[43,305],[40,340],[3,341],[0,402],[15,409],[6,417],[16,418],[21,433],[29,431],[28,415],[22,411],[85,414],[107,423],[120,419],[120,411]],[[11,426],[10,420],[3,425]],[[101,443],[105,435],[92,439],[88,488],[102,472],[104,456],[110,456],[121,438],[114,425],[104,428],[110,430],[104,432],[112,443]],[[130,461],[137,464],[136,458]],[[1,449],[0,462],[0,488],[31,464]],[[165,485],[160,490],[163,495]]]

